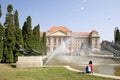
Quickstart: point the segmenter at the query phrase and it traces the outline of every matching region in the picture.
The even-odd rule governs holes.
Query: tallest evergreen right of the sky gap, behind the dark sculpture
[[[32,49],[33,47],[33,32],[31,26],[31,17],[28,16],[26,22],[24,22],[22,28],[22,34],[24,38],[24,47],[27,49]]]

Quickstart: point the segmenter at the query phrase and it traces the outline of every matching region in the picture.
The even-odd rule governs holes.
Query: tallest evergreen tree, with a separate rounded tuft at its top
[[[15,50],[13,14],[11,14],[12,10],[13,10],[13,7],[11,4],[9,4],[7,6],[8,14],[6,15],[6,20],[5,20],[4,44],[3,44],[3,48],[6,48],[5,50],[8,50],[8,51],[3,51],[4,54],[2,57],[2,62],[8,62],[8,63],[13,62],[13,52]]]

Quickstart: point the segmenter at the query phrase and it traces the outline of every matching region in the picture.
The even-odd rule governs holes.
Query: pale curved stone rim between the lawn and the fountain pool
[[[64,67],[66,69],[68,69],[68,70],[72,70],[72,71],[75,71],[75,72],[83,72],[81,70],[73,69],[70,66],[64,66]],[[98,73],[93,73],[93,74],[90,74],[90,75],[95,75],[95,76],[100,76],[100,77],[106,77],[106,78],[114,78],[114,79],[120,80],[120,76],[104,75],[104,74],[98,74]]]

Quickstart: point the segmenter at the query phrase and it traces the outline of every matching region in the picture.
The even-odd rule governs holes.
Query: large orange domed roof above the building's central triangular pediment
[[[55,31],[58,31],[58,30],[61,30],[61,31],[64,31],[64,32],[72,32],[71,30],[69,30],[65,26],[53,26],[48,30],[48,32],[55,32]]]

